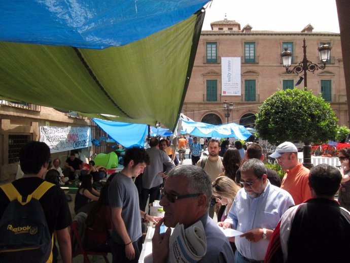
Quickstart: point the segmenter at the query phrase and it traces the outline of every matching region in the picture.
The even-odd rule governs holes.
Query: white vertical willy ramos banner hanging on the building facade
[[[221,58],[221,95],[240,96],[240,57]]]

